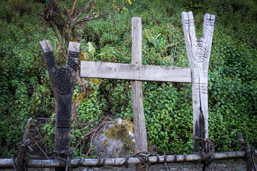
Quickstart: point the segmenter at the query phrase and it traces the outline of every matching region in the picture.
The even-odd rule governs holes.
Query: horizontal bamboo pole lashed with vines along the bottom
[[[255,151],[257,153],[257,150]],[[196,154],[186,155],[187,159],[186,162],[189,161],[197,161],[201,157]],[[214,160],[220,160],[220,159],[232,159],[232,158],[242,158],[245,156],[245,152],[226,152],[226,153],[216,153],[214,154]],[[177,155],[176,162],[182,162],[184,159],[183,155]],[[174,162],[175,156],[169,155],[166,158],[166,162]],[[72,166],[75,166],[76,163],[78,163],[80,159],[73,159],[71,160]],[[124,158],[109,158],[106,159],[105,165],[111,165],[111,166],[119,166],[121,163],[124,162]],[[149,157],[149,160],[151,163],[156,163],[157,157]],[[96,166],[98,159],[84,159],[82,162],[82,166]],[[164,156],[160,156],[160,163],[163,163]],[[140,164],[140,160],[138,158],[129,158],[128,161],[129,164]],[[58,163],[56,160],[29,160],[28,161],[29,167],[40,167],[40,168],[46,168],[46,167],[62,167],[60,163]],[[13,168],[12,159],[0,159],[0,168]]]

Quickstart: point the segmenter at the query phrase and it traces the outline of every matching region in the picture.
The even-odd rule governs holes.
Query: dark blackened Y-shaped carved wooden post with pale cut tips
[[[57,66],[53,48],[48,40],[39,43],[55,96],[56,128],[54,152],[60,152],[57,155],[66,158],[65,154],[61,153],[69,151],[71,147],[71,100],[79,61],[80,43],[69,42],[66,67]],[[67,156],[67,159],[69,157]],[[65,168],[56,168],[56,170],[65,170]]]

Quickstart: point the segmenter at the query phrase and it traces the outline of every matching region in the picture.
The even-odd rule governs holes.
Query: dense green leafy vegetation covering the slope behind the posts
[[[71,5],[72,1],[60,1],[67,9]],[[53,148],[54,95],[38,42],[50,40],[57,64],[66,62],[58,54],[53,30],[40,19],[43,8],[32,0],[5,0],[0,5],[0,155],[4,158],[17,155],[21,130],[30,117],[35,122],[49,118],[42,135],[48,149]],[[89,21],[79,32],[85,59],[131,63],[131,18],[138,16],[145,29],[143,64],[176,67],[189,67],[181,13],[193,11],[197,37],[201,37],[204,14],[216,15],[208,83],[210,139],[218,152],[236,151],[240,131],[257,148],[256,1],[97,0],[94,10],[102,18]],[[155,38],[161,34],[159,46],[149,42],[145,33]],[[74,90],[73,102],[79,108],[72,122],[73,149],[87,140],[83,135],[102,116],[133,120],[130,81],[87,79],[84,84],[86,94],[79,84]],[[157,146],[160,153],[192,152],[191,91],[190,83],[143,82],[148,145]],[[75,157],[85,155],[79,148],[74,152]]]

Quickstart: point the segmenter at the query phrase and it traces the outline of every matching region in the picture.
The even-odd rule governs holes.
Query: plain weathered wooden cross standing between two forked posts
[[[191,82],[190,68],[142,65],[141,18],[132,18],[132,64],[81,61],[81,77],[132,80],[132,107],[135,151],[147,151],[147,135],[143,108],[142,80]],[[136,170],[147,170],[136,165]]]

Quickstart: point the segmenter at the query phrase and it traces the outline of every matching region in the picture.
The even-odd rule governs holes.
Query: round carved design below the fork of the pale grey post
[[[197,62],[204,62],[208,59],[209,48],[205,42],[195,41],[192,44],[193,59]]]

